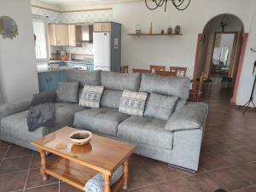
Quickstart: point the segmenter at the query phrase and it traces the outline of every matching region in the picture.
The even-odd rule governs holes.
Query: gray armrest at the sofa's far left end
[[[20,113],[22,111],[28,110],[32,99],[27,99],[26,101],[19,102],[7,102],[0,105],[0,121],[1,119],[15,113]]]

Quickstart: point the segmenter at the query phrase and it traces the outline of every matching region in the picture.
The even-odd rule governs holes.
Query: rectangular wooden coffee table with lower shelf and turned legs
[[[105,181],[104,192],[115,192],[127,189],[129,168],[128,160],[135,151],[136,146],[122,143],[108,137],[93,135],[90,143],[84,146],[76,146],[69,139],[70,133],[77,131],[70,127],[50,133],[32,142],[41,154],[41,175],[47,179],[47,175],[59,178],[62,181],[84,190],[85,183],[102,172]],[[65,143],[66,148],[57,149],[58,143]],[[59,156],[54,163],[46,166],[46,152]],[[123,176],[117,183],[110,185],[113,172],[124,166]]]

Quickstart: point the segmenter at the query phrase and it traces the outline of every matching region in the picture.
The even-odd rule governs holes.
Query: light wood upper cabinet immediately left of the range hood
[[[68,44],[73,47],[82,46],[82,26],[68,25]]]

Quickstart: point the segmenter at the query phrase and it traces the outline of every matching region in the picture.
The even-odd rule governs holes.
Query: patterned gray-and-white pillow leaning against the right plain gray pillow
[[[124,90],[119,105],[119,112],[143,116],[148,93]]]

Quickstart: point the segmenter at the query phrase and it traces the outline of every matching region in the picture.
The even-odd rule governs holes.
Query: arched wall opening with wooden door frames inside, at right
[[[219,69],[219,63],[222,62],[219,62],[220,59],[218,61],[214,60],[216,53],[221,51],[221,49],[215,46],[217,43],[216,37],[228,36],[227,34],[230,34],[230,36],[233,34],[234,36],[234,42],[231,44],[232,46],[230,46],[230,57],[226,57],[227,60],[230,59],[230,62],[227,62],[229,65],[224,66],[226,66],[227,70],[226,76],[232,79],[231,88],[233,90],[233,96],[231,101],[235,102],[241,73],[239,70],[241,69],[243,55],[245,54],[245,45],[247,43],[243,22],[236,15],[216,15],[211,20],[207,21],[203,32],[198,36],[194,79],[199,78],[202,73],[204,73],[206,78],[211,78],[214,67],[216,68],[216,66],[218,66]]]

